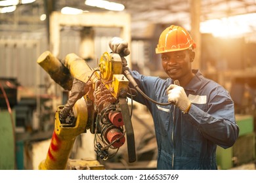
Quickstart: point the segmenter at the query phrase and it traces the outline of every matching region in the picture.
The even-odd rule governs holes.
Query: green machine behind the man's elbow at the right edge
[[[231,169],[236,165],[249,163],[255,159],[255,132],[253,116],[236,115],[240,133],[234,146],[224,149],[217,146],[217,163],[219,169]]]

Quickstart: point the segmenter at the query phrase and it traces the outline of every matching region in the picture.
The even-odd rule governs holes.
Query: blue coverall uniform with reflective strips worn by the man
[[[188,114],[175,105],[156,105],[142,95],[133,97],[150,110],[158,144],[157,169],[217,169],[217,145],[228,148],[238,138],[239,128],[230,94],[198,70],[184,87],[192,102]],[[159,103],[168,103],[167,87],[173,84],[156,76],[131,71],[140,90]]]

